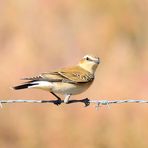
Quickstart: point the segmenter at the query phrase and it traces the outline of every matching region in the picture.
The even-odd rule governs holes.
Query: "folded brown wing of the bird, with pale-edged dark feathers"
[[[67,83],[85,83],[92,81],[94,75],[86,70],[76,68],[63,68],[54,72],[42,73],[39,76],[32,78],[25,78],[25,80],[32,81],[50,81],[50,82],[67,82]]]

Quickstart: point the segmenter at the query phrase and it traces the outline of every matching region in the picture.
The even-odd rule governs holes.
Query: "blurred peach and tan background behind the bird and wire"
[[[20,78],[100,57],[96,80],[73,99],[148,99],[147,0],[1,0],[0,98],[54,99],[13,91]],[[5,104],[0,148],[146,148],[148,105]]]

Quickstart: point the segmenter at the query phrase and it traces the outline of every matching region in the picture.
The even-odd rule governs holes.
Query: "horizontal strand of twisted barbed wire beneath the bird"
[[[60,105],[64,103],[64,100],[0,100],[0,107],[3,107],[2,104],[5,103],[53,103],[55,105]],[[67,104],[72,103],[84,103],[85,107],[90,104],[95,104],[96,108],[99,108],[101,105],[109,104],[123,104],[123,103],[148,103],[148,100],[136,100],[136,99],[127,99],[127,100],[91,100],[88,98],[81,100],[70,100]]]

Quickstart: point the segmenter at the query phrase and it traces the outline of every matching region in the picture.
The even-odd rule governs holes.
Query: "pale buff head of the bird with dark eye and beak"
[[[79,66],[94,74],[99,63],[99,57],[93,55],[86,55],[80,60]]]

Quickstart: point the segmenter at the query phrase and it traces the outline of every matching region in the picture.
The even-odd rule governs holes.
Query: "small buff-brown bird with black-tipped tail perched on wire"
[[[24,83],[12,88],[14,90],[29,88],[46,90],[57,98],[57,105],[61,104],[62,101],[59,94],[64,96],[64,103],[68,104],[71,95],[80,94],[91,86],[99,63],[99,57],[85,55],[76,66],[23,78],[22,80],[25,80]]]

